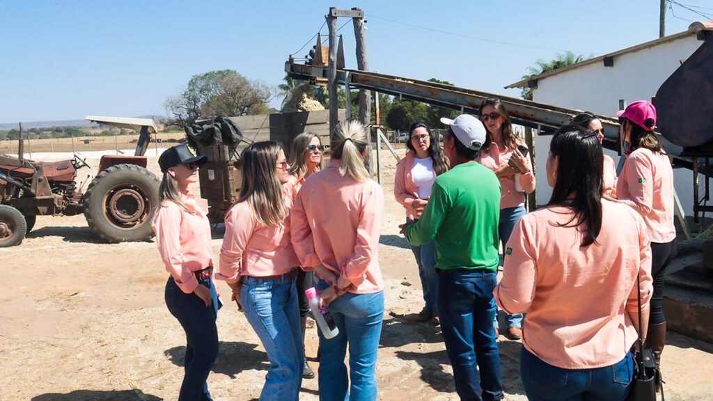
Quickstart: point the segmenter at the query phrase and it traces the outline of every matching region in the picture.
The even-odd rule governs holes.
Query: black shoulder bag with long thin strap
[[[644,340],[641,337],[641,283],[636,275],[636,289],[639,301],[639,338],[634,349],[634,377],[631,382],[630,401],[656,401],[656,387],[661,385],[661,401],[665,401],[664,387],[656,364],[654,352],[650,348],[644,349]]]

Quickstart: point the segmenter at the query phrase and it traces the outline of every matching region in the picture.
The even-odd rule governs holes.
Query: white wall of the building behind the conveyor
[[[580,68],[548,76],[538,81],[533,100],[539,103],[591,111],[602,116],[615,116],[619,99],[627,104],[651,100],[658,88],[702,44],[694,34],[659,44],[648,49],[622,54],[614,58],[613,67],[600,61]],[[535,138],[537,203],[547,203],[552,188],[547,185],[545,161],[550,149],[550,136]],[[619,163],[617,153],[605,150]],[[693,173],[674,170],[676,190],[686,215],[693,213]]]

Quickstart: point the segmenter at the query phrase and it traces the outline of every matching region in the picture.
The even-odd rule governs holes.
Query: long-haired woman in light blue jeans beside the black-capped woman
[[[294,283],[299,261],[289,242],[292,199],[282,185],[289,165],[273,141],[253,143],[240,158],[240,197],[225,215],[216,278],[232,288],[270,360],[260,400],[294,401],[304,356]]]

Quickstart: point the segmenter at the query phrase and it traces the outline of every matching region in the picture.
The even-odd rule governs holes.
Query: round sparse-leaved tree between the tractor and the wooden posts
[[[170,125],[186,125],[199,118],[267,113],[270,98],[272,89],[264,83],[220,70],[191,77],[178,96],[168,98],[166,108],[174,116]]]

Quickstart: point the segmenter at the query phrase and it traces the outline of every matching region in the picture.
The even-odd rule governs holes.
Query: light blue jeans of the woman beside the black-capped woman
[[[270,360],[260,400],[297,400],[304,351],[294,278],[265,280],[244,276],[240,298],[245,318],[260,337]]]

